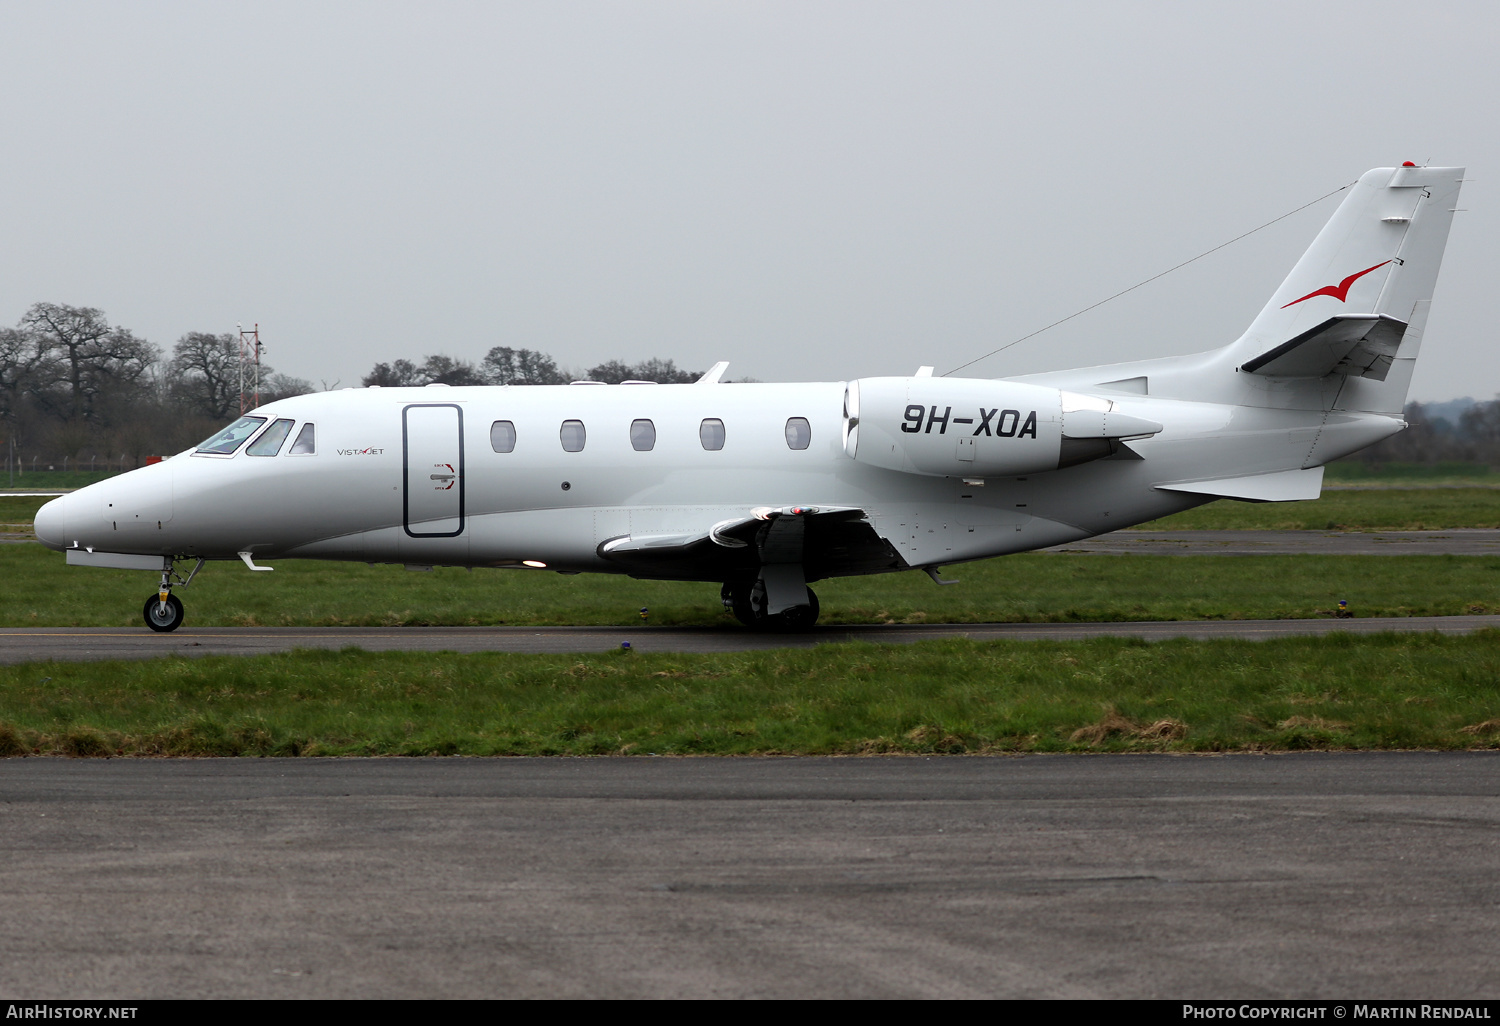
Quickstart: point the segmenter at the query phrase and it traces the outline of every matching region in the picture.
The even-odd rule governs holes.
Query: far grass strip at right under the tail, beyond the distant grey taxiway
[[[1306,502],[1220,500],[1137,531],[1452,531],[1500,528],[1500,489],[1328,490]]]

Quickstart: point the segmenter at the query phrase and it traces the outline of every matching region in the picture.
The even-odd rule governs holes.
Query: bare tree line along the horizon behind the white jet
[[[444,354],[420,363],[376,363],[366,386],[567,384],[588,380],[692,382],[702,370],[672,360],[609,360],[585,372],[560,368],[546,352],[494,346],[482,360]],[[246,386],[249,388],[249,386]],[[260,400],[314,392],[302,378],[261,363]],[[243,399],[249,405],[250,398]],[[238,416],[240,339],[188,332],[170,351],[111,324],[88,306],[36,303],[15,327],[0,328],[0,459],[22,468],[140,466],[150,456],[188,448]],[[1365,464],[1470,462],[1500,465],[1500,399],[1478,402],[1456,420],[1406,408],[1407,429],[1353,456]]]

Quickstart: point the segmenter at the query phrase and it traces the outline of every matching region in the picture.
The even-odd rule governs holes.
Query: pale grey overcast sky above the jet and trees
[[[0,324],[939,372],[1371,166],[1467,165],[1413,398],[1500,392],[1496,3],[10,3]],[[992,357],[1232,342],[1336,200]]]

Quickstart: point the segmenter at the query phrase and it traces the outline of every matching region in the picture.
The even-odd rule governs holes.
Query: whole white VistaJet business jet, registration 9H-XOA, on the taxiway
[[[1462,168],[1377,168],[1234,344],[1022,378],[345,388],[48,502],[68,564],[362,560],[723,585],[746,624],[810,580],[1086,538],[1218,498],[1317,498],[1401,430]],[[188,562],[196,561],[192,570]],[[940,582],[940,580],[939,580]]]

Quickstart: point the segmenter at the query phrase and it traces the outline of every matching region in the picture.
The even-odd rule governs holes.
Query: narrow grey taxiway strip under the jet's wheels
[[[602,652],[628,644],[640,652],[740,652],[838,642],[908,645],[942,638],[1066,640],[1078,638],[1245,638],[1378,632],[1467,634],[1500,628],[1500,616],[1368,616],[1353,620],[1184,620],[1095,624],[916,624],[818,627],[762,634],[738,627],[6,627],[0,663],[34,660],[262,656],[297,648],[387,652]]]

